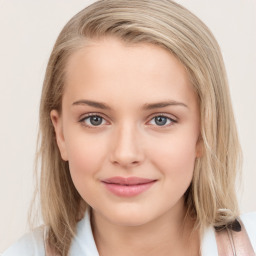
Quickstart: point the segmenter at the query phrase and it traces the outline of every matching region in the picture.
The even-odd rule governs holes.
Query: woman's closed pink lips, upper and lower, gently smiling
[[[137,196],[148,190],[155,182],[156,180],[140,177],[111,177],[102,180],[110,192],[121,197]]]

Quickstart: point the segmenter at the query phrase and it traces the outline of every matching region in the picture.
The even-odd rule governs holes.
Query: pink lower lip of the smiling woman
[[[148,190],[155,181],[143,184],[136,184],[136,185],[120,185],[120,184],[113,184],[113,183],[105,183],[103,182],[105,187],[117,196],[122,197],[132,197],[137,196],[144,191]]]

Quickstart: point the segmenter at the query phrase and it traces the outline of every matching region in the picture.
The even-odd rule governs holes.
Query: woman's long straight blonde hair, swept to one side
[[[185,194],[187,213],[200,231],[227,225],[239,215],[235,183],[241,151],[221,51],[207,26],[171,0],[101,0],[76,14],[52,50],[42,89],[38,140],[41,214],[47,243],[68,255],[86,202],[62,160],[50,119],[61,112],[69,57],[90,40],[114,37],[129,44],[150,43],[167,49],[184,65],[198,96],[202,156]]]

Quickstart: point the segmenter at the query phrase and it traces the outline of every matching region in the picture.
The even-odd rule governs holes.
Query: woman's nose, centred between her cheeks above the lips
[[[124,168],[140,165],[144,161],[141,138],[136,127],[123,125],[113,135],[110,161]]]

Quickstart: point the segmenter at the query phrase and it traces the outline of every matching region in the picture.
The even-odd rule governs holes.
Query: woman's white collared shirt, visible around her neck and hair
[[[251,241],[254,253],[256,253],[256,212],[242,215],[241,220]],[[12,245],[2,256],[45,256],[43,228],[22,237]],[[93,238],[90,214],[86,211],[85,217],[78,222],[77,234],[73,239],[70,249],[71,256],[99,256]],[[201,242],[202,256],[217,256],[218,249],[213,227],[209,227]]]

